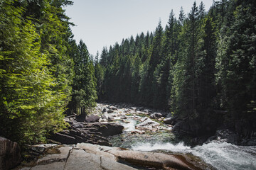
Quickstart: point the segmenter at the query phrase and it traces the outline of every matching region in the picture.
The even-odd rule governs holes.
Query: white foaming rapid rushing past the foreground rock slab
[[[256,146],[236,146],[226,142],[210,142],[202,146],[188,147],[183,142],[173,145],[171,143],[141,143],[133,145],[132,149],[151,152],[154,150],[165,150],[175,153],[191,153],[211,164],[216,169],[256,169]]]

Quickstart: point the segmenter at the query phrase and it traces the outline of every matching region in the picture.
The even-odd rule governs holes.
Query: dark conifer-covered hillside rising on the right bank
[[[215,1],[206,12],[171,11],[165,28],[104,47],[96,60],[100,100],[171,111],[192,135],[225,125],[255,132],[255,1]],[[171,7],[171,6],[170,6]],[[97,56],[98,57],[98,56]]]

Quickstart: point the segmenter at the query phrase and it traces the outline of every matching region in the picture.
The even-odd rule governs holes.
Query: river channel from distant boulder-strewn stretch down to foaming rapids
[[[99,111],[102,108],[110,107],[111,105],[106,104],[97,105]],[[109,138],[113,147],[146,152],[193,155],[201,159],[200,162],[210,165],[210,168],[207,169],[256,169],[256,146],[245,147],[227,142],[209,142],[191,147],[188,137],[174,134],[171,131],[172,127],[163,123],[163,117],[149,118],[150,114],[150,112],[140,111],[136,107],[117,105],[115,105],[112,113],[105,113],[105,117],[109,116],[108,120],[111,118],[112,122],[124,126],[121,135]],[[156,124],[142,125],[143,121],[154,121]]]

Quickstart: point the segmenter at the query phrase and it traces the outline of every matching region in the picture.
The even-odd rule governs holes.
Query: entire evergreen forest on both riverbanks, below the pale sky
[[[193,137],[220,127],[242,138],[256,132],[256,2],[193,4],[165,28],[90,55],[75,43],[68,0],[0,2],[0,136],[46,142],[99,101],[173,113]],[[171,7],[170,7],[171,8]]]

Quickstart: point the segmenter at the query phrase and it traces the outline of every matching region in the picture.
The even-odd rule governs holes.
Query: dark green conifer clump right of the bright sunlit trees
[[[73,42],[73,55],[71,56],[74,60],[75,77],[73,79],[72,101],[69,108],[72,113],[85,115],[90,108],[96,106],[95,68],[93,61],[90,60],[87,47],[82,40],[80,40],[78,46]],[[100,81],[100,77],[103,77],[103,75],[100,75],[102,74],[100,69],[97,69],[98,81]]]

